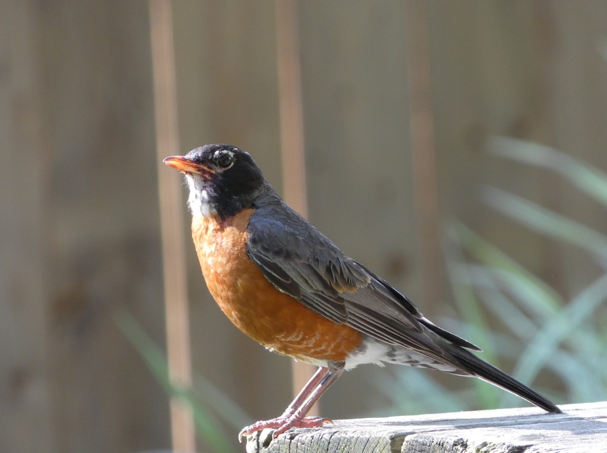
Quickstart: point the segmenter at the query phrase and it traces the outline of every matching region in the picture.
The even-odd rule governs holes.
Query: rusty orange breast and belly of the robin
[[[220,221],[192,220],[192,238],[209,291],[236,327],[263,346],[300,361],[344,361],[362,343],[358,331],[336,324],[277,290],[249,260],[246,226],[253,209]]]

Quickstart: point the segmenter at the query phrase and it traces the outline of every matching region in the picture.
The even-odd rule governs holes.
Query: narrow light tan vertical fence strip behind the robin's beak
[[[150,0],[149,7],[169,378],[176,386],[188,388],[192,366],[181,180],[160,167],[164,157],[180,154],[171,2]],[[171,434],[175,451],[195,451],[191,409],[175,399],[171,401]]]

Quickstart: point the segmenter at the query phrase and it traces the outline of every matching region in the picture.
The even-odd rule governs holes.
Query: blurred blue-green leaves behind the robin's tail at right
[[[607,174],[565,153],[518,139],[494,137],[493,155],[528,166],[543,167],[562,176],[582,195],[607,207]],[[573,297],[565,297],[524,269],[515,260],[458,221],[447,225],[447,270],[462,323],[447,326],[485,349],[485,360],[515,362],[512,375],[530,384],[557,403],[581,403],[602,398],[607,390],[607,236],[561,213],[532,203],[496,187],[486,187],[488,206],[545,237],[572,244],[598,263],[599,277]],[[600,275],[602,272],[602,275]],[[493,333],[487,318],[500,320],[507,334]],[[495,347],[499,344],[500,347]],[[517,351],[515,357],[510,351]],[[550,372],[554,386],[541,388],[534,381],[541,370]],[[416,372],[417,374],[415,374]],[[428,412],[436,401],[441,410],[466,410],[470,406],[493,408],[524,404],[514,395],[479,382],[470,392],[452,392],[440,386],[432,374],[399,372],[392,381],[378,385],[386,394],[415,394],[396,404],[403,413]],[[560,382],[559,382],[560,381]],[[399,390],[397,391],[396,388]],[[424,394],[419,408],[416,395]],[[426,395],[432,395],[426,400]],[[423,404],[423,403],[422,403]],[[403,406],[401,408],[401,406]],[[420,410],[421,409],[421,410]]]

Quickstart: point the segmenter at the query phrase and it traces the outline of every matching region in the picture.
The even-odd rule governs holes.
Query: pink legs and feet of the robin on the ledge
[[[287,410],[280,417],[272,420],[258,421],[251,426],[246,426],[238,434],[238,440],[243,435],[253,434],[265,428],[277,428],[273,438],[278,437],[290,428],[314,428],[326,423],[333,423],[328,418],[306,417],[305,414],[319,400],[325,391],[339,378],[344,372],[343,362],[330,363],[330,367],[319,367],[313,377],[305,384],[299,395],[293,400]]]

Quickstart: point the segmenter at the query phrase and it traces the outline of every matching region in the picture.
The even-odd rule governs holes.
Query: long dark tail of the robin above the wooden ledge
[[[512,376],[507,375],[497,367],[476,357],[476,355],[465,349],[453,347],[450,348],[449,352],[455,357],[456,362],[461,364],[463,369],[476,375],[476,377],[480,377],[493,385],[514,393],[529,401],[529,403],[533,403],[535,406],[544,409],[544,411],[554,412],[555,414],[560,414],[562,412],[557,406],[552,404],[551,401],[538,394],[538,392],[533,391]]]

